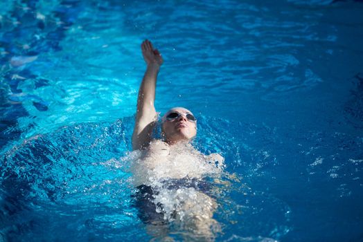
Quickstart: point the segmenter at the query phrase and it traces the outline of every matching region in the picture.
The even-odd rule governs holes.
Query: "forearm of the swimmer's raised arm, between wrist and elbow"
[[[137,100],[137,111],[154,111],[155,89],[157,86],[157,75],[159,73],[159,64],[149,64],[146,68],[143,81],[139,89]]]

